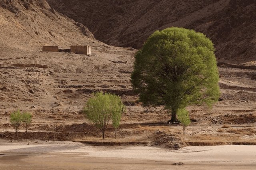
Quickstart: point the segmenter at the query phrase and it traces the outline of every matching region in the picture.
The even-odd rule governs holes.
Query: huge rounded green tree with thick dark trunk
[[[185,28],[154,32],[135,55],[131,75],[145,105],[164,105],[176,122],[178,109],[212,106],[220,97],[214,45],[202,33]]]

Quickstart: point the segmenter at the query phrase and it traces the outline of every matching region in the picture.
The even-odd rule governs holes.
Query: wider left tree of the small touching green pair
[[[97,92],[88,99],[84,107],[85,116],[100,129],[103,139],[105,139],[105,131],[112,118],[111,105],[110,94]]]

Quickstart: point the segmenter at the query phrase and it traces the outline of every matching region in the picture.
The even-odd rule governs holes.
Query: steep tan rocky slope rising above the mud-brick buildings
[[[0,17],[1,44],[13,49],[68,47],[93,40],[86,27],[58,14],[45,0],[3,0]]]

